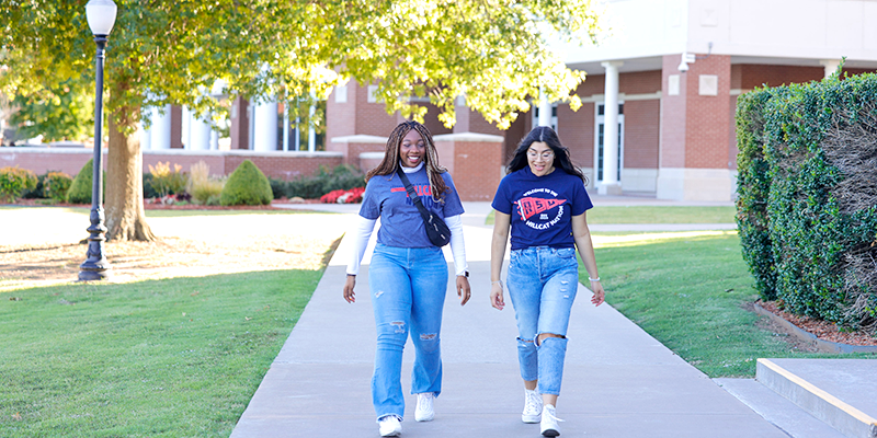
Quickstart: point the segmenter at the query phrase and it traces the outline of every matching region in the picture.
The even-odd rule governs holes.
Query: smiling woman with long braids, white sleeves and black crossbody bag
[[[414,419],[432,420],[433,399],[442,392],[442,309],[447,289],[447,263],[442,249],[429,239],[423,218],[397,173],[401,169],[417,197],[451,229],[451,250],[460,304],[469,301],[469,273],[463,244],[463,205],[454,181],[438,157],[432,135],[417,122],[405,122],[387,140],[384,160],[366,173],[365,194],[354,230],[355,250],[348,265],[344,299],[353,291],[360,262],[375,222],[380,218],[377,244],[368,267],[368,288],[377,327],[372,403],[380,436],[401,434],[405,397],[401,385],[402,349],[409,333],[417,350],[411,393],[417,394]]]

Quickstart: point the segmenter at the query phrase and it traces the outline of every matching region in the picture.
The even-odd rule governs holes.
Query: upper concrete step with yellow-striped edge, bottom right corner
[[[877,438],[876,377],[869,359],[759,359],[755,371],[760,383],[848,438]]]

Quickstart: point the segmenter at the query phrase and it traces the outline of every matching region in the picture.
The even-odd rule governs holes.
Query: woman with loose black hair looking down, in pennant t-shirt
[[[511,228],[506,286],[517,320],[517,357],[524,380],[524,423],[543,436],[560,435],[556,406],[563,377],[567,327],[579,286],[576,249],[590,277],[591,302],[604,291],[585,221],[593,207],[585,177],[549,127],[533,129],[517,146],[493,198],[490,302],[505,307],[500,279]]]

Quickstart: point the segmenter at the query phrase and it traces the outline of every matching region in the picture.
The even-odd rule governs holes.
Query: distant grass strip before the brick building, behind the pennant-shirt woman
[[[734,207],[596,207],[588,223],[733,223]],[[490,211],[486,224],[493,224]]]

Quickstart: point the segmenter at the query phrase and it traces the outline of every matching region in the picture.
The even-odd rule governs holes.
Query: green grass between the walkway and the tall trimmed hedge
[[[599,233],[597,233],[599,235]],[[736,232],[597,247],[606,302],[710,378],[754,378],[758,358],[877,358],[810,354],[760,328],[758,298]],[[588,285],[580,265],[579,277]]]

